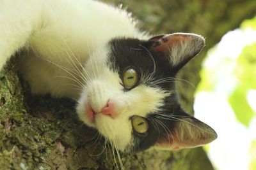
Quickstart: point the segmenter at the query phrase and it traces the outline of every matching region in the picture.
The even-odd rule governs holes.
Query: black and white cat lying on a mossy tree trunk
[[[2,0],[0,69],[20,52],[33,94],[70,96],[77,114],[122,152],[216,139],[178,102],[175,74],[204,47],[196,34],[149,36],[127,12],[89,0]]]

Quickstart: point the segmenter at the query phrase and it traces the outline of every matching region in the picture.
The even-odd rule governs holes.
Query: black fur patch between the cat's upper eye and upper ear
[[[122,74],[127,67],[132,66],[137,71],[145,73],[154,72],[159,79],[172,77],[172,69],[168,59],[150,50],[152,43],[132,38],[116,38],[109,42],[110,61],[115,69]]]

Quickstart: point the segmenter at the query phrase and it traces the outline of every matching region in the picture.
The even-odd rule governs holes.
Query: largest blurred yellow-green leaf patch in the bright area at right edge
[[[256,43],[245,46],[243,52],[236,60],[234,73],[238,80],[237,87],[228,101],[233,108],[236,118],[242,124],[248,126],[250,120],[255,116],[246,94],[250,89],[256,89]]]

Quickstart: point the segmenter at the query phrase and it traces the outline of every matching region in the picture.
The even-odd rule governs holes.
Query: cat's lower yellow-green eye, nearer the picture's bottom
[[[132,117],[132,127],[136,132],[143,134],[148,131],[148,122],[143,117],[134,116]]]

